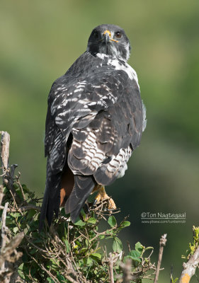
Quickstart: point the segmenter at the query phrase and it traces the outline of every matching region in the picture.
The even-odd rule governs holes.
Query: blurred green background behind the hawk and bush
[[[10,163],[42,195],[45,115],[52,82],[86,50],[101,23],[123,27],[130,65],[147,107],[147,129],[123,179],[108,188],[131,226],[131,246],[154,246],[168,233],[159,282],[181,272],[181,254],[198,225],[199,1],[0,1],[0,129],[11,134]],[[142,224],[142,212],[186,212],[186,224]],[[198,282],[196,278],[192,282]]]

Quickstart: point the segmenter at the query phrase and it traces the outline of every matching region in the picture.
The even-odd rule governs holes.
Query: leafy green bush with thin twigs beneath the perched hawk
[[[13,192],[9,185],[4,187],[2,204],[8,202],[8,238],[24,232],[17,248],[23,255],[15,263],[24,282],[111,282],[111,278],[114,282],[125,282],[125,277],[128,282],[142,282],[153,277],[156,270],[150,262],[153,248],[145,248],[138,242],[125,255],[118,233],[130,222],[124,219],[118,224],[106,209],[106,201],[90,207],[89,215],[83,213],[75,224],[62,208],[50,229],[45,225],[39,232],[41,200],[21,185],[18,177],[12,185]],[[108,239],[112,241],[111,248],[106,245]]]

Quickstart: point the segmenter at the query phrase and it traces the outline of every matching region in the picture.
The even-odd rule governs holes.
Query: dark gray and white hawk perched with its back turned
[[[137,74],[127,60],[130,41],[117,25],[93,29],[86,52],[50,90],[45,125],[47,175],[40,214],[45,218],[64,206],[72,222],[92,192],[96,201],[123,177],[132,151],[146,126]],[[115,203],[109,199],[109,208]]]

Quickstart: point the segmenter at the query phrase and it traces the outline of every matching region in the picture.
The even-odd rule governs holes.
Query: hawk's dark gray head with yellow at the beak
[[[118,25],[98,25],[89,37],[87,51],[93,55],[106,54],[127,61],[130,41]]]

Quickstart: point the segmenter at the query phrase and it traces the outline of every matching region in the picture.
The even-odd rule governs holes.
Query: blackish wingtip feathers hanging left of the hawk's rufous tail
[[[45,194],[40,213],[40,231],[42,230],[42,227],[45,223],[45,219],[47,219],[47,223],[50,226],[54,212],[56,216],[59,215],[61,176],[62,173],[53,175],[52,171],[50,170],[50,165],[47,164]]]

